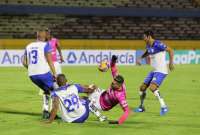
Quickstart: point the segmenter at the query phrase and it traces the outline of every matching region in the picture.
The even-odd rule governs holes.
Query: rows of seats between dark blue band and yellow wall
[[[141,39],[153,29],[159,39],[200,39],[200,18],[93,17],[65,15],[1,15],[0,38],[34,38],[50,27],[65,39]]]

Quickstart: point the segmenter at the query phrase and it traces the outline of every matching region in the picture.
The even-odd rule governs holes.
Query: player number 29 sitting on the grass
[[[53,122],[60,108],[61,118],[64,122],[83,123],[89,116],[89,101],[81,99],[79,93],[91,93],[93,87],[79,84],[69,85],[64,74],[57,76],[59,88],[51,92],[53,108],[47,123]]]

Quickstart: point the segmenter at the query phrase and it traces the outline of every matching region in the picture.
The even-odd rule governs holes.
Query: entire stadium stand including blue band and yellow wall
[[[66,48],[142,48],[142,34],[148,29],[174,48],[200,48],[200,1],[0,1],[0,48],[23,48],[44,27],[66,39]]]

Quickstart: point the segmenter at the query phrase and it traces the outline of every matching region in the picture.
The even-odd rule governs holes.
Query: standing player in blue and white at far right
[[[168,108],[166,103],[164,102],[163,97],[159,92],[159,87],[164,81],[165,77],[168,74],[168,67],[166,61],[166,52],[169,53],[169,69],[173,70],[173,50],[166,46],[159,40],[155,40],[154,34],[152,31],[146,31],[144,33],[144,41],[146,42],[146,51],[145,53],[137,59],[137,63],[140,64],[141,59],[149,56],[150,57],[150,64],[154,68],[147,77],[145,78],[144,82],[140,86],[140,105],[136,108],[135,112],[144,112],[144,100],[146,97],[146,90],[149,88],[153,94],[157,97],[158,101],[160,102],[161,110],[160,115],[164,115],[168,112]]]

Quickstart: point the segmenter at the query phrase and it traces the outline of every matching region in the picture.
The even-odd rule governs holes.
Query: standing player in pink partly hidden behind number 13
[[[52,36],[50,29],[46,29],[46,31],[47,31],[47,38],[48,38],[49,44],[50,44],[50,46],[52,48],[52,52],[51,52],[52,61],[53,61],[54,67],[56,69],[56,74],[61,74],[62,73],[62,69],[61,69],[60,62],[63,63],[64,59],[63,59],[60,43],[59,43],[57,38],[54,38]],[[57,50],[58,50],[60,59],[57,59]]]

